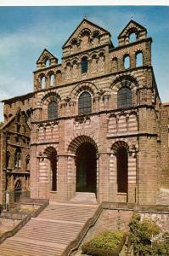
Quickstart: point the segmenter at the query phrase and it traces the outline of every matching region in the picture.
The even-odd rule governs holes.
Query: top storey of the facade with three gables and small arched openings
[[[63,45],[62,62],[44,49],[34,72],[34,90],[72,84],[87,79],[131,73],[138,68],[144,73],[151,67],[151,43],[147,30],[134,20],[118,36],[114,47],[110,32],[83,19]]]

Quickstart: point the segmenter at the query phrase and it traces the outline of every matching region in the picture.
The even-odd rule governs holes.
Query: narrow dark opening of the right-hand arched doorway
[[[127,193],[128,187],[128,154],[127,148],[118,148],[117,161],[117,192]]]

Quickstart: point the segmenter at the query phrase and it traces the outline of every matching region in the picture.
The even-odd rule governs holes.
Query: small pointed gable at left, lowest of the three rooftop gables
[[[36,64],[37,68],[46,67],[46,61],[49,61],[49,66],[57,65],[58,59],[48,49],[43,49],[42,54],[39,56]]]

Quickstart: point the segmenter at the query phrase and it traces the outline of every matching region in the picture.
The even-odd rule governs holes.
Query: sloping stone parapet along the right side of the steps
[[[93,227],[93,225],[98,220],[102,211],[103,211],[103,207],[102,207],[102,205],[100,205],[98,207],[97,211],[94,213],[93,218],[89,218],[87,220],[87,223],[84,224],[81,232],[76,236],[76,239],[74,241],[70,242],[70,244],[65,248],[65,251],[61,254],[61,256],[70,256],[71,253],[73,253],[74,251],[76,251],[78,249],[83,238],[87,235],[87,231]]]

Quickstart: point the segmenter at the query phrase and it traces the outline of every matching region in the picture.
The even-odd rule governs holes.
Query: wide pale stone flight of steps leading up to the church
[[[98,205],[49,204],[37,218],[0,245],[1,256],[60,256]]]

